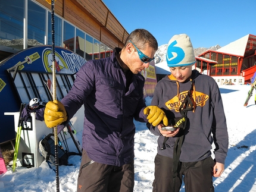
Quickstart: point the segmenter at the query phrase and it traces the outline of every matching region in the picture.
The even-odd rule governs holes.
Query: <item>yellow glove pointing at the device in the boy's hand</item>
[[[148,122],[153,126],[157,126],[161,121],[163,121],[164,125],[168,125],[166,114],[162,109],[158,108],[158,106],[147,106],[143,112],[145,115],[148,115],[146,119],[148,119]]]

